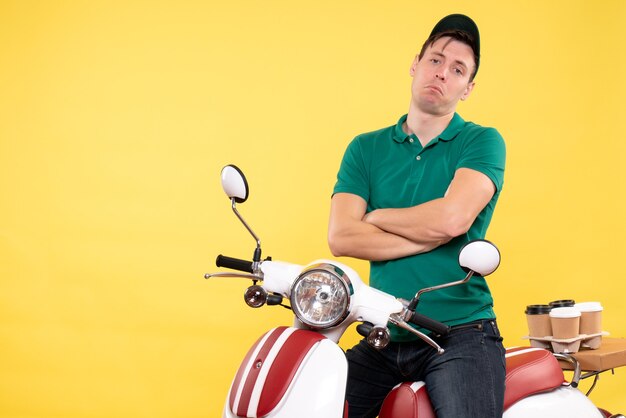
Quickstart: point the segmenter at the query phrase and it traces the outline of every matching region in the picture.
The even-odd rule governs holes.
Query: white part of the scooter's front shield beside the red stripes
[[[341,418],[347,374],[348,363],[343,350],[330,340],[321,340],[311,348],[285,396],[266,417]],[[237,418],[229,408],[228,399],[222,417]],[[248,414],[248,417],[261,418],[254,414]]]

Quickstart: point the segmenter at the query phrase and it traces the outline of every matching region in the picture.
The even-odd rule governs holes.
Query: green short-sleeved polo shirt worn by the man
[[[502,189],[506,150],[493,128],[465,122],[458,114],[425,147],[395,126],[357,136],[348,146],[333,193],[352,193],[367,202],[367,211],[404,208],[441,198],[454,173],[470,168],[487,175],[496,193],[466,234],[432,251],[390,261],[370,262],[370,285],[404,299],[425,287],[460,280],[465,273],[458,253],[468,241],[484,238]],[[493,299],[479,276],[463,285],[425,293],[417,311],[448,325],[495,318]],[[394,341],[415,337],[392,328]]]

